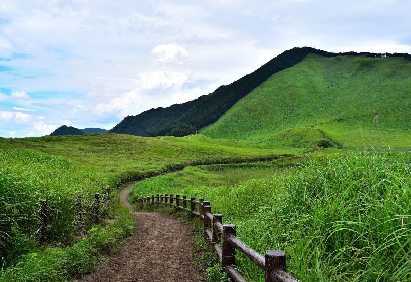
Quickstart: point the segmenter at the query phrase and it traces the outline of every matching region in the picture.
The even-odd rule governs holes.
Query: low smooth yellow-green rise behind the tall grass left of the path
[[[196,141],[198,140],[198,141]],[[201,141],[201,142],[200,142]],[[301,154],[301,149],[260,149],[229,140],[147,138],[118,134],[87,134],[38,138],[0,138],[1,148],[25,148],[66,157],[104,175],[110,185],[177,170],[189,165],[273,159]]]

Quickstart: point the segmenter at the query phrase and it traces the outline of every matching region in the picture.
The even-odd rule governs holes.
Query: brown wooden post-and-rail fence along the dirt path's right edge
[[[162,204],[174,206],[176,209],[189,211],[193,217],[199,217],[201,221],[204,221],[204,239],[211,242],[212,250],[217,253],[222,262],[223,271],[236,282],[247,281],[235,267],[236,250],[246,255],[264,271],[266,282],[298,281],[285,272],[285,252],[268,250],[263,256],[247,246],[246,243],[236,237],[236,225],[222,224],[222,214],[212,214],[210,202],[204,201],[204,199],[197,201],[195,197],[188,199],[186,196],[180,197],[180,195],[157,194],[156,196],[134,198],[134,201],[140,205]],[[187,203],[190,203],[190,209],[187,208]],[[196,209],[197,205],[199,206],[198,211]]]

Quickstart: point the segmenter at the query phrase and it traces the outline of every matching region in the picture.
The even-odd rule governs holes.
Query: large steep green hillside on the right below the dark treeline
[[[403,58],[309,54],[271,76],[201,133],[297,147],[326,139],[345,148],[364,141],[411,148],[409,77],[411,62]]]

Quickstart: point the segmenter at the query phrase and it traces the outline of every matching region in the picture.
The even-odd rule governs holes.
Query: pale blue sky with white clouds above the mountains
[[[212,93],[278,54],[411,53],[410,0],[0,0],[0,137]]]

